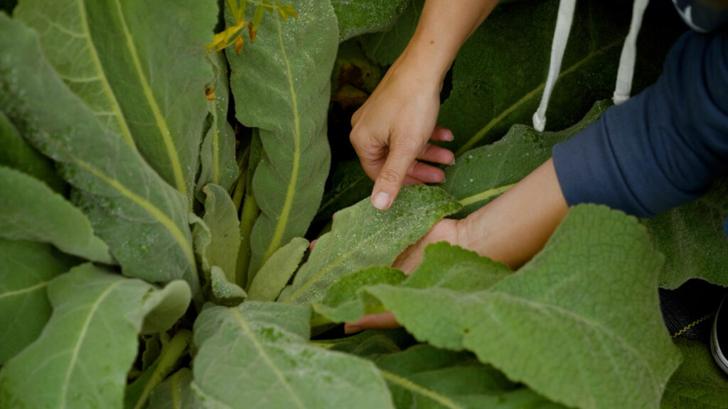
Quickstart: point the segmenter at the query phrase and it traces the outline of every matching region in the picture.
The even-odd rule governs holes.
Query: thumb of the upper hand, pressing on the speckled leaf
[[[411,151],[411,152],[410,152]],[[414,162],[417,149],[397,148],[394,144],[389,149],[387,161],[381,167],[374,182],[371,204],[379,210],[387,210],[394,202],[402,188],[407,169]]]

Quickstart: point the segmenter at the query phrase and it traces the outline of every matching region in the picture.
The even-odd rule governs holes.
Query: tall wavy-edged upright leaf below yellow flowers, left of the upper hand
[[[336,16],[328,1],[290,4],[298,19],[267,15],[253,44],[240,55],[228,49],[235,114],[260,129],[265,151],[253,178],[261,215],[251,235],[249,275],[306,233],[331,160],[326,116],[339,44]]]

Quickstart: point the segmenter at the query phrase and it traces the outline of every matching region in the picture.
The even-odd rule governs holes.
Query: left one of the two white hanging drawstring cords
[[[566,41],[569,40],[569,31],[571,31],[571,22],[574,20],[574,8],[577,0],[561,0],[558,4],[558,18],[556,19],[556,30],[553,34],[553,42],[551,43],[551,61],[548,67],[548,77],[544,87],[544,93],[541,97],[541,103],[538,110],[534,113],[534,128],[543,132],[546,126],[546,108],[548,100],[551,98],[551,91],[558,79],[558,73],[561,71],[561,59],[563,58],[563,50],[566,49]]]

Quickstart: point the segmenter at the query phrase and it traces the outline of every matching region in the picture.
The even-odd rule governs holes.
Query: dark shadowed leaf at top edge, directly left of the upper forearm
[[[424,0],[412,0],[408,3],[392,28],[381,33],[361,36],[360,41],[366,55],[381,65],[394,63],[414,35]]]

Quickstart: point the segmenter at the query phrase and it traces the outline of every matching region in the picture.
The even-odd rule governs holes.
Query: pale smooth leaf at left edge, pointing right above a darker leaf
[[[68,254],[114,263],[81,210],[44,183],[0,166],[0,191],[0,237],[47,242]]]

